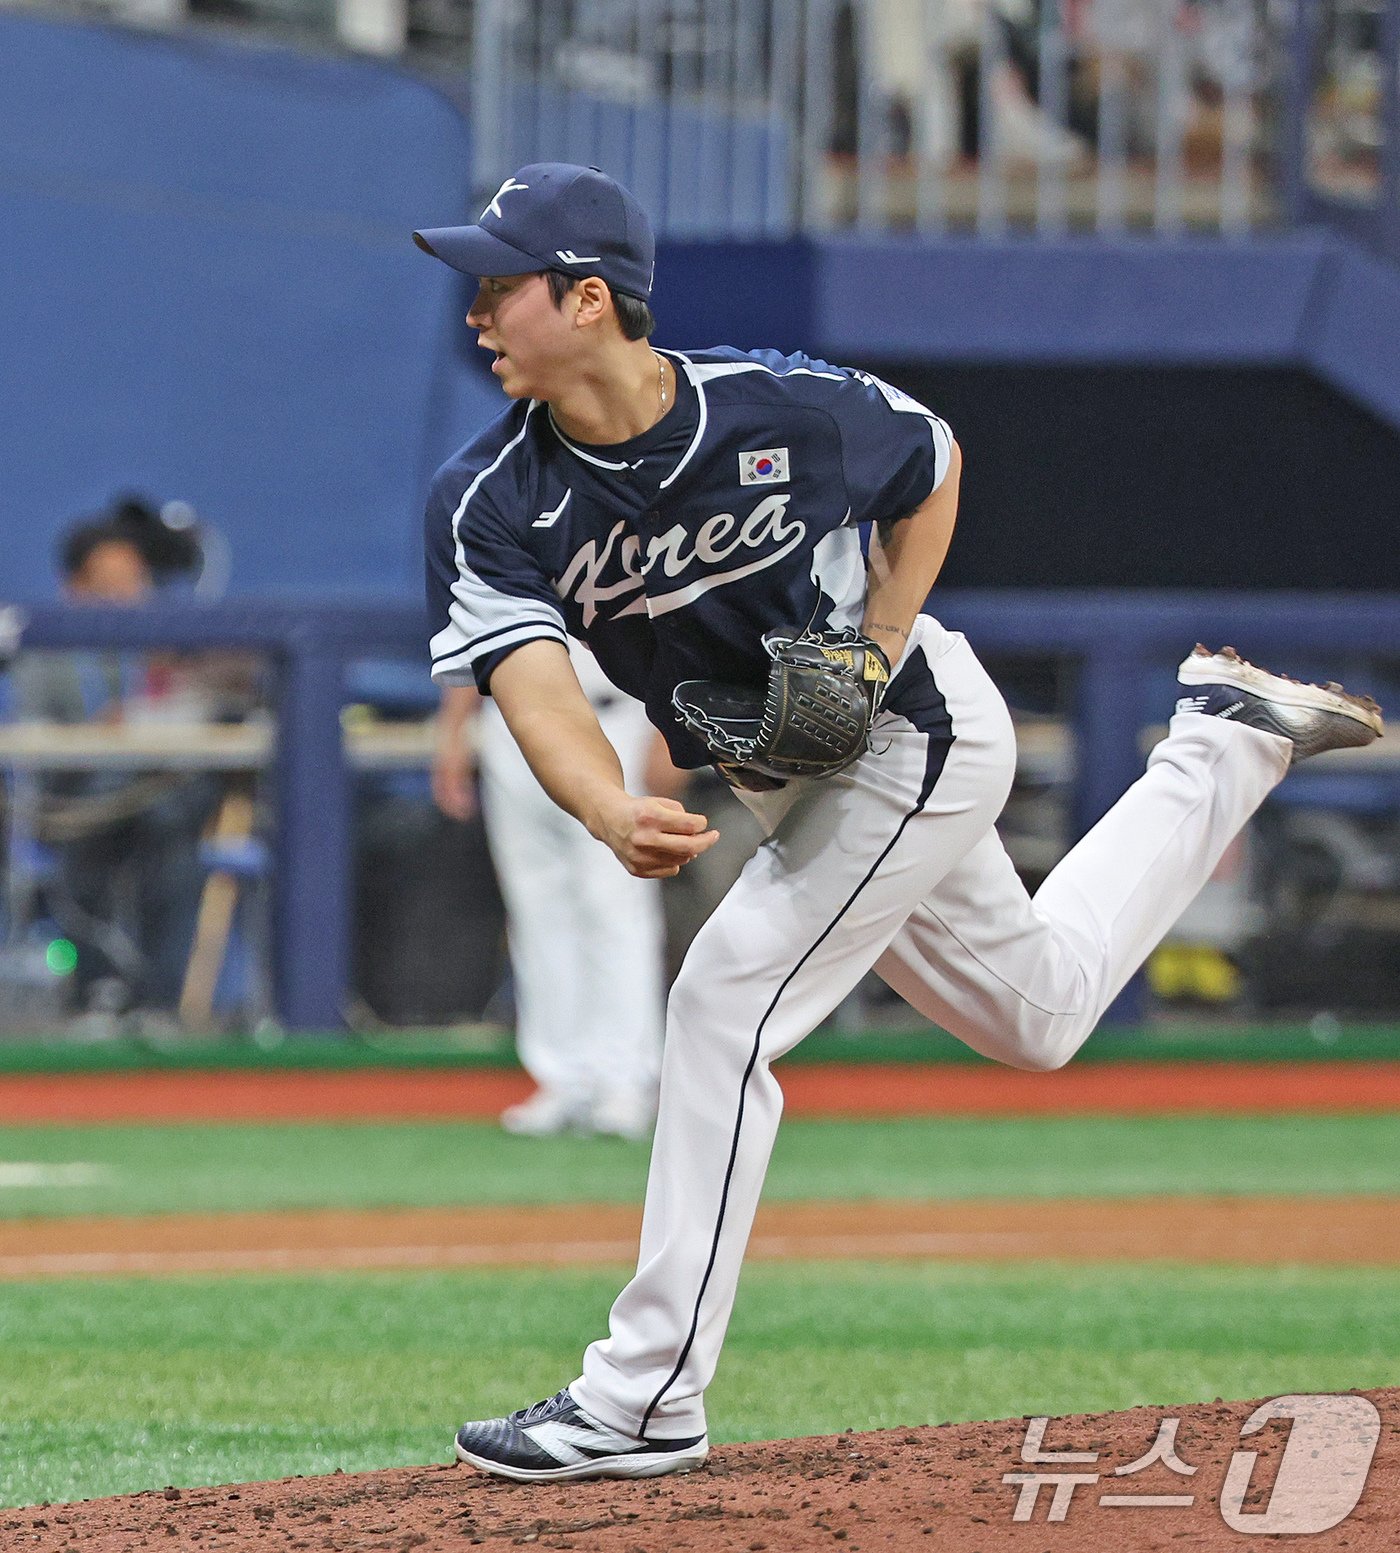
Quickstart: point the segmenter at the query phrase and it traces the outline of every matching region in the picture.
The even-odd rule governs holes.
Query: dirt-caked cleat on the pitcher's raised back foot
[[[1226,717],[1290,739],[1294,766],[1322,750],[1370,744],[1384,733],[1381,710],[1369,696],[1269,674],[1246,663],[1234,648],[1212,652],[1196,643],[1176,679],[1195,691],[1176,702],[1178,711]]]

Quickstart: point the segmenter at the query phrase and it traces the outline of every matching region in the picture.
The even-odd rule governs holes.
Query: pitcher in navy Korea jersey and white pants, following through
[[[651,228],[594,168],[521,168],[477,225],[415,241],[479,280],[466,321],[511,401],[434,480],[434,677],[494,696],[632,873],[674,874],[715,831],[626,790],[576,637],[768,832],[671,991],[609,1332],[553,1398],[465,1424],[457,1454],[525,1482],[688,1471],[782,1112],[769,1064],[873,966],[985,1056],[1060,1067],[1290,764],[1375,739],[1380,710],[1196,648],[1145,775],[1030,899],[994,829],[1012,719],[921,613],[957,514],[945,422],[806,356],[653,349]]]

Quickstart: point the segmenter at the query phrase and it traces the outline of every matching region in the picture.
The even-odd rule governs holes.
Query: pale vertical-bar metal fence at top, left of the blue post
[[[493,172],[567,148],[650,180],[681,235],[1243,233],[1279,219],[1290,22],[1269,0],[479,0],[477,144]]]

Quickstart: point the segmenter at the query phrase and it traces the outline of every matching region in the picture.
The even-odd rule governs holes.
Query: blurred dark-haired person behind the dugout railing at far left
[[[140,606],[155,592],[140,530],[121,514],[84,520],[59,544],[75,604]],[[37,652],[16,663],[26,721],[118,725],[186,707],[177,660],[134,652]],[[174,1025],[204,870],[199,840],[218,806],[208,775],[82,770],[40,784],[37,839],[56,856],[54,919],[78,949],[78,1030],[117,1036]]]

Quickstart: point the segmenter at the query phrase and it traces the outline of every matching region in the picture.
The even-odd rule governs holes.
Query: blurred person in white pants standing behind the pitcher
[[[614,690],[586,648],[572,657],[628,781],[668,790],[676,773],[642,704]],[[475,812],[474,773],[507,910],[516,1048],[538,1086],[500,1124],[525,1137],[643,1138],[660,1075],[660,882],[634,879],[550,800],[493,700],[449,686],[432,790],[454,820]]]

